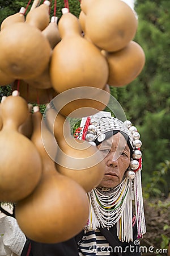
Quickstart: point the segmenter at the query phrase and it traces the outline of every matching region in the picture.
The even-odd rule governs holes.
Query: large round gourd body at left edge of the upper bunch
[[[0,33],[0,69],[14,79],[33,79],[47,67],[52,49],[36,27],[18,22]]]

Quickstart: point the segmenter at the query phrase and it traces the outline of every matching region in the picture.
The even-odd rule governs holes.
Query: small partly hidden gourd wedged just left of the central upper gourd
[[[50,23],[42,31],[42,34],[48,39],[50,47],[52,47],[52,49],[59,41],[61,41],[61,37],[58,31],[57,17],[52,16]]]

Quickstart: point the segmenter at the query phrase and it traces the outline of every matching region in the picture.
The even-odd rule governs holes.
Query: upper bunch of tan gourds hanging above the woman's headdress
[[[89,86],[110,93],[109,86],[133,81],[145,64],[145,53],[133,41],[138,20],[121,0],[82,0],[79,18],[62,9],[50,19],[50,2],[24,15],[8,16],[0,32],[0,85],[20,81],[20,96],[46,104],[59,93]],[[99,101],[72,101],[62,109],[69,115],[77,105],[103,110],[109,97],[96,90]],[[98,95],[99,94],[99,95]],[[88,98],[88,97],[87,97]],[[87,113],[91,114],[91,113]]]

